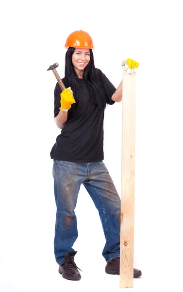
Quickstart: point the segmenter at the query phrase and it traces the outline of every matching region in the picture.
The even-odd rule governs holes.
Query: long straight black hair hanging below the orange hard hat
[[[84,68],[83,79],[85,80],[89,93],[90,100],[94,105],[98,105],[100,109],[106,108],[106,93],[101,85],[101,71],[95,68],[94,57],[92,49],[90,50],[90,61]],[[76,94],[79,88],[79,80],[74,66],[72,64],[72,54],[75,48],[69,47],[66,52],[66,64],[65,64],[65,78],[66,84],[71,87],[73,95]],[[80,83],[81,84],[81,83]]]

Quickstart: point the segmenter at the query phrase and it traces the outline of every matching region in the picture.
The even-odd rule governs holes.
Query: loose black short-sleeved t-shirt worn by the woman
[[[98,69],[99,70],[99,69]],[[106,92],[106,103],[113,105],[111,99],[116,88],[101,73],[101,84]],[[56,138],[56,143],[51,149],[51,159],[69,162],[98,162],[104,159],[103,154],[103,119],[104,110],[90,102],[89,91],[84,79],[79,79],[81,85],[74,95],[76,103],[72,104],[67,112],[67,122]],[[62,79],[65,84],[65,78]],[[66,86],[66,84],[65,84]],[[71,88],[72,89],[72,88]],[[60,93],[59,84],[54,90],[54,117],[59,113]]]

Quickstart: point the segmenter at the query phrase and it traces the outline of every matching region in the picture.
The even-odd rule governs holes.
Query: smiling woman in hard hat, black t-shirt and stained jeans
[[[120,198],[102,162],[103,119],[106,104],[122,100],[122,81],[116,89],[95,68],[92,38],[83,31],[67,37],[64,91],[56,84],[54,118],[61,134],[50,156],[53,159],[54,194],[57,206],[54,254],[59,273],[69,280],[81,279],[72,248],[78,237],[76,207],[80,186],[91,196],[100,214],[106,244],[102,256],[105,272],[119,274]],[[141,271],[134,269],[134,277]]]

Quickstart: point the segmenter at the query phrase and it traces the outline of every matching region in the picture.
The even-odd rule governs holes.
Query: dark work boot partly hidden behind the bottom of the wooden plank
[[[108,261],[105,266],[105,273],[112,275],[119,275],[120,258],[115,257]],[[133,269],[133,278],[138,278],[142,275],[142,272],[137,269]]]

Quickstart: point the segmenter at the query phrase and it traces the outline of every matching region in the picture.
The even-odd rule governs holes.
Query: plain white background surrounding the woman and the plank
[[[58,274],[53,252],[56,206],[50,150],[60,130],[53,119],[59,63],[67,36],[88,32],[95,66],[117,87],[121,61],[136,73],[135,229],[133,291],[182,291],[183,109],[181,1],[31,0],[1,4],[0,27],[0,291],[119,291],[105,274],[100,217],[82,186],[79,237],[73,248],[79,282]],[[104,163],[121,192],[122,102],[104,119]]]

